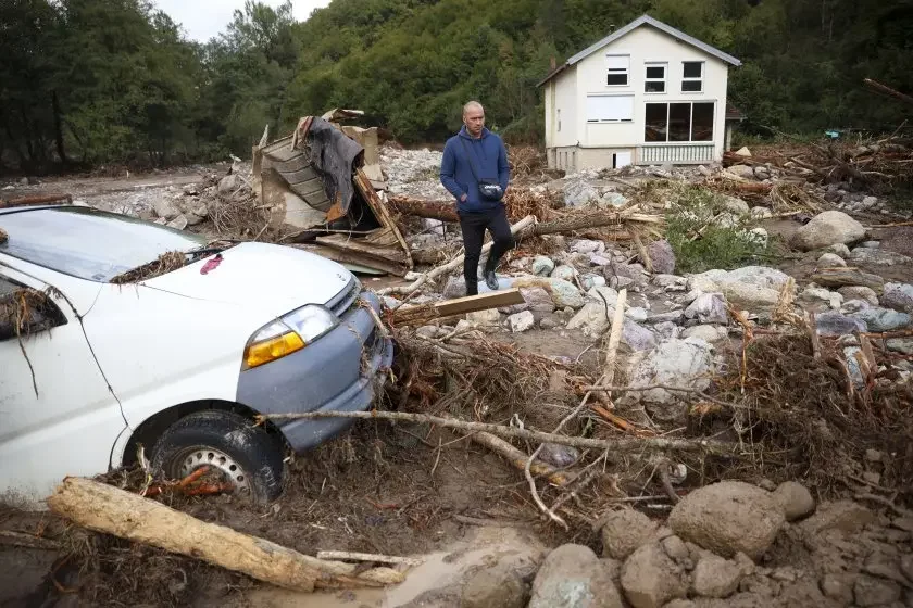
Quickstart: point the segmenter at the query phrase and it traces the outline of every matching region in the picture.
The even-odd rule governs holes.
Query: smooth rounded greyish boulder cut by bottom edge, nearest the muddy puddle
[[[623,608],[622,597],[596,554],[562,545],[542,562],[528,608]]]

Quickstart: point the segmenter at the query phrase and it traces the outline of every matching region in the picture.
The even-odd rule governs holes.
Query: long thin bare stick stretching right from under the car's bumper
[[[611,389],[612,387],[610,387]],[[662,389],[656,385],[654,389]],[[603,387],[598,387],[603,389]],[[675,389],[675,387],[673,387]],[[641,390],[641,389],[638,389]],[[649,390],[643,388],[642,390]],[[724,402],[725,403],[725,402]],[[258,422],[263,420],[307,420],[311,418],[359,418],[364,420],[400,420],[405,422],[432,423],[449,429],[461,429],[463,431],[485,431],[502,438],[516,438],[537,441],[541,443],[558,443],[573,447],[592,447],[595,449],[616,449],[623,452],[640,451],[646,448],[654,449],[679,449],[681,452],[709,452],[717,456],[731,455],[735,444],[714,440],[703,439],[665,439],[665,438],[618,438],[611,440],[571,438],[542,431],[529,431],[504,425],[490,425],[488,422],[468,422],[441,418],[428,414],[412,414],[408,411],[308,411],[304,414],[261,414],[255,417]]]

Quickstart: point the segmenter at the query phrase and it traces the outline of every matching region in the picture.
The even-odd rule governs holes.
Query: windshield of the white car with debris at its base
[[[90,281],[113,277],[170,251],[205,246],[200,235],[91,207],[60,206],[0,214],[0,253]]]

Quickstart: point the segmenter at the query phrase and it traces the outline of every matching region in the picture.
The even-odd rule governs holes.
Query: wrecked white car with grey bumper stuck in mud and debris
[[[252,417],[364,410],[388,375],[365,309],[379,302],[329,259],[82,206],[0,210],[0,497],[40,503],[140,453],[168,479],[211,465],[268,502],[288,449],[351,422]],[[121,283],[168,252],[186,263]],[[36,291],[45,304],[11,316]]]

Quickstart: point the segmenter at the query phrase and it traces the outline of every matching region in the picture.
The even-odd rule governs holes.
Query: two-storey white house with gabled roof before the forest
[[[538,84],[549,167],[721,160],[730,65],[741,62],[648,15],[633,21]]]

